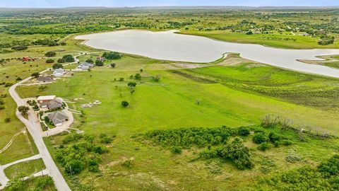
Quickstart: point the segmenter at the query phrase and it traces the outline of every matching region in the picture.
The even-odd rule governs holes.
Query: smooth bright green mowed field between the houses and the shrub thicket
[[[84,117],[76,115],[75,126],[94,134],[133,134],[150,129],[178,127],[254,125],[260,122],[263,115],[270,113],[291,118],[302,125],[338,132],[335,127],[339,127],[339,121],[333,112],[244,93],[220,83],[196,82],[169,71],[144,71],[141,81],[129,79],[135,73],[136,71],[95,68],[48,85],[44,91],[38,90],[37,86],[20,87],[18,91],[24,97],[52,94],[70,100],[83,98],[78,103],[71,104],[71,108],[85,113]],[[162,76],[159,83],[150,79],[155,74]],[[114,81],[120,77],[124,77],[125,81]],[[128,81],[138,83],[133,94],[127,86]],[[79,107],[81,103],[95,100],[100,100],[102,104],[93,108]],[[129,108],[121,107],[122,100],[130,103]]]

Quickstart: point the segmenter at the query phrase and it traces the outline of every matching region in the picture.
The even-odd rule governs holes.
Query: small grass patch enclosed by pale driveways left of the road
[[[20,170],[18,170],[20,169]],[[18,163],[13,166],[5,168],[4,172],[10,180],[18,177],[19,175],[30,176],[34,173],[44,170],[44,162],[42,159],[37,159],[33,161],[25,161],[23,163]]]

